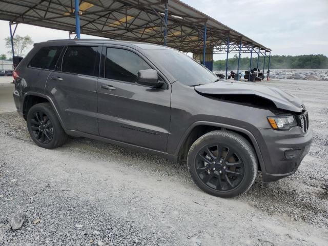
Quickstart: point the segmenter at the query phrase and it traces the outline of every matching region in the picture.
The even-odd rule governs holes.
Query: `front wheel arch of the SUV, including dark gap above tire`
[[[261,150],[256,141],[256,138],[249,130],[236,126],[220,124],[216,122],[209,122],[209,121],[194,122],[194,124],[192,124],[188,128],[186,133],[182,136],[175,153],[175,155],[178,156],[178,160],[183,160],[184,158],[187,157],[190,147],[192,146],[193,142],[197,138],[214,130],[232,131],[238,133],[239,135],[247,139],[255,150],[255,154],[259,164],[258,169],[261,170],[262,172],[265,172],[264,160],[261,154]]]

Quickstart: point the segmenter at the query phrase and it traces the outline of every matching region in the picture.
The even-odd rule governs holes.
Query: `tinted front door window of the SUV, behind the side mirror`
[[[107,48],[105,78],[135,83],[138,71],[144,69],[152,68],[132,51]]]

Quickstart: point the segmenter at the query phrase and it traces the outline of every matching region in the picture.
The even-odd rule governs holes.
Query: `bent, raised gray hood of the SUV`
[[[218,81],[215,83],[195,86],[195,90],[208,95],[256,95],[271,100],[278,109],[302,112],[303,102],[296,96],[278,88],[258,84]]]

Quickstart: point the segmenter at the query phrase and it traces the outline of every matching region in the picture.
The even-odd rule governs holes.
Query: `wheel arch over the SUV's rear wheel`
[[[60,122],[61,127],[65,130],[63,120],[61,119],[61,117],[59,115],[59,112],[58,112],[58,110],[56,109],[56,107],[53,103],[53,100],[49,96],[41,94],[41,93],[37,93],[37,92],[27,92],[27,93],[25,93],[24,99],[23,99],[23,105],[22,105],[23,117],[26,119],[28,110],[33,105],[36,105],[36,104],[39,104],[39,103],[50,103],[52,109],[54,110],[54,112],[55,112],[55,114],[56,114],[56,116],[57,116],[57,118]]]

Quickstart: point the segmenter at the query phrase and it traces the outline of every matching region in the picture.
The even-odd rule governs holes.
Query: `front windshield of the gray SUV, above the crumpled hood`
[[[152,60],[187,86],[213,83],[218,77],[186,54],[172,49],[145,50]]]

